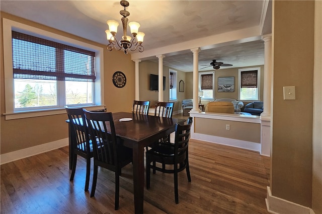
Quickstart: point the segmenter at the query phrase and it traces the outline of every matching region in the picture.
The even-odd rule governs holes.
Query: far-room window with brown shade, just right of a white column
[[[202,99],[214,99],[214,72],[199,73],[199,91],[203,91]]]

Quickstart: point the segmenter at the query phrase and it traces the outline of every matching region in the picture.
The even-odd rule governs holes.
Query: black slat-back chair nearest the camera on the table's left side
[[[93,144],[94,173],[91,197],[95,194],[98,167],[115,172],[115,210],[119,208],[121,169],[132,162],[132,149],[122,145],[116,138],[113,116],[111,112],[90,112],[84,110],[89,125],[90,136],[96,142]]]

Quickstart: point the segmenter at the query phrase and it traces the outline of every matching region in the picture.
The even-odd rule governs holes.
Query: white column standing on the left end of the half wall
[[[199,109],[198,105],[198,53],[200,52],[200,48],[193,48],[190,49],[193,53],[193,107],[190,110],[191,113],[200,113],[201,110]]]

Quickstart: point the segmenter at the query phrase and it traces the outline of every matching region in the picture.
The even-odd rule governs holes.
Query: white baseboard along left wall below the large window
[[[68,138],[56,140],[49,143],[44,143],[37,146],[21,149],[18,151],[8,152],[0,155],[0,164],[9,163],[22,158],[30,157],[36,154],[44,153],[53,149],[58,149],[68,145]]]

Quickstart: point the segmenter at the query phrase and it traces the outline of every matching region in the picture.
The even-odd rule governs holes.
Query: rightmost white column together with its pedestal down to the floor
[[[264,35],[264,111],[261,114],[261,155],[271,155],[272,35]]]

